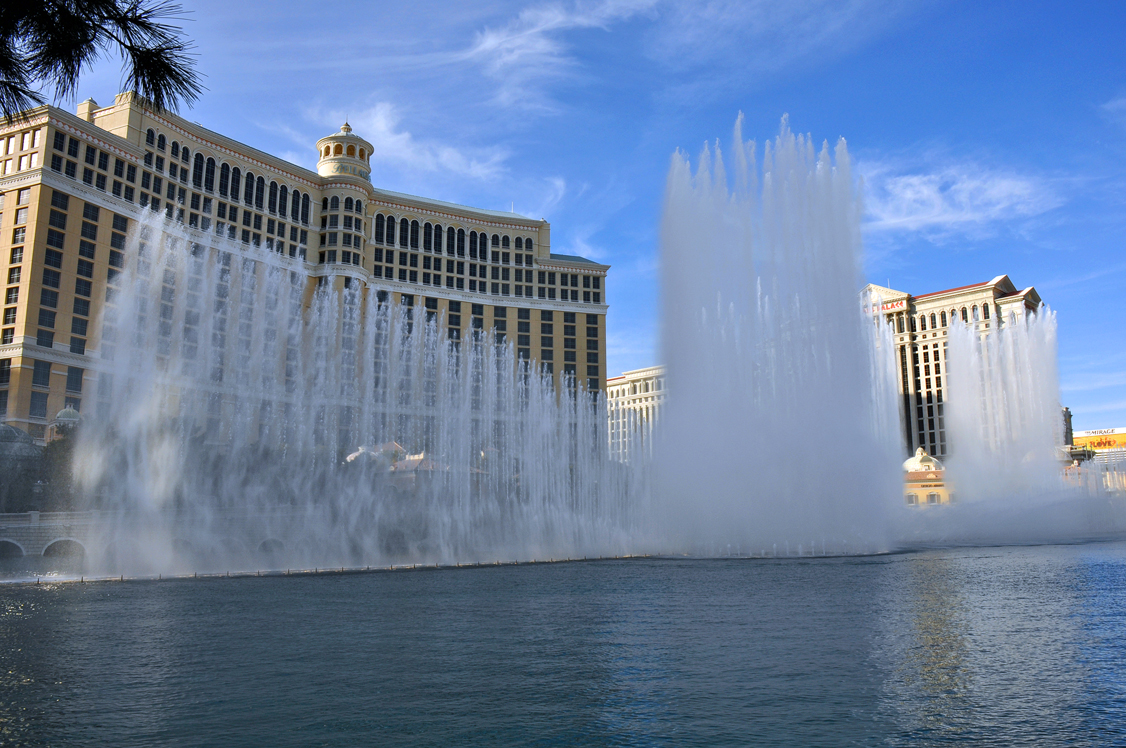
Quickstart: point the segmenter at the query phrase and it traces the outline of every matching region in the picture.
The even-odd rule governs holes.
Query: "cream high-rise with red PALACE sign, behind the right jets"
[[[1036,288],[1020,291],[1007,275],[919,296],[868,284],[861,299],[866,313],[882,315],[892,328],[906,452],[922,447],[938,456],[948,452],[942,369],[949,326],[958,319],[986,336],[1040,305]]]

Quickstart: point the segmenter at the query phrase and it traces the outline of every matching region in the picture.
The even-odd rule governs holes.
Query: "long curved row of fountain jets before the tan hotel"
[[[77,473],[136,571],[616,554],[605,406],[490,335],[164,222],[104,319]],[[311,299],[306,297],[311,294]],[[105,555],[102,554],[105,549]]]

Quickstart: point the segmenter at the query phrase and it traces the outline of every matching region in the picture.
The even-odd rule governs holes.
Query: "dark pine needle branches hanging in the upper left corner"
[[[125,88],[155,109],[175,110],[203,92],[191,44],[169,21],[182,18],[164,0],[3,0],[0,2],[0,114],[7,121],[75,92],[96,60],[118,54]]]

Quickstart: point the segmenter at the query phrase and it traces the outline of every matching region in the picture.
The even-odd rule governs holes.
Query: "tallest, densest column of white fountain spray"
[[[900,500],[894,375],[863,320],[860,213],[844,141],[781,132],[733,168],[677,153],[661,233],[669,404],[655,519],[670,549],[890,547]]]

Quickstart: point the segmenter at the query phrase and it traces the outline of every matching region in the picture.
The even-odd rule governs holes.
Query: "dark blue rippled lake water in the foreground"
[[[0,743],[1126,743],[1126,545],[0,587]]]

